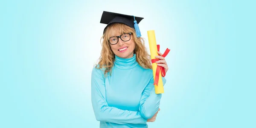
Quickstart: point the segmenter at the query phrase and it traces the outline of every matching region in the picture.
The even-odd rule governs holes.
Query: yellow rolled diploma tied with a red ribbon
[[[158,54],[157,54],[157,41],[156,41],[156,36],[155,36],[154,30],[148,31],[148,43],[149,43],[151,59],[155,59],[155,56]],[[153,76],[154,76],[154,80],[155,80],[157,64],[153,63],[152,68],[153,68]],[[154,88],[155,88],[156,94],[163,93],[163,79],[162,79],[161,70],[159,73],[158,85],[154,85]]]

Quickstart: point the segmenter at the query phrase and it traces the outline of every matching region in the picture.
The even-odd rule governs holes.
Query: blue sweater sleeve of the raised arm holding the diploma
[[[166,79],[162,77],[163,85],[166,83]],[[145,119],[150,119],[158,111],[160,106],[160,99],[162,94],[156,94],[154,89],[154,78],[151,77],[150,82],[143,90],[143,94],[140,99],[140,113]]]

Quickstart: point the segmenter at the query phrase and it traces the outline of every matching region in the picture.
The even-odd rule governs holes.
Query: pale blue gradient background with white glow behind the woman
[[[255,2],[0,2],[0,128],[98,128],[90,75],[103,11],[144,17],[166,57],[161,111],[149,128],[255,128]],[[149,49],[148,49],[149,51]]]

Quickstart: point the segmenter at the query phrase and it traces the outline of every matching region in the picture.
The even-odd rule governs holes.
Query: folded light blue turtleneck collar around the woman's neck
[[[117,55],[115,55],[115,61],[114,65],[115,67],[122,69],[122,70],[128,70],[132,69],[135,66],[137,66],[137,61],[136,61],[136,54],[133,55],[131,58],[120,58]]]

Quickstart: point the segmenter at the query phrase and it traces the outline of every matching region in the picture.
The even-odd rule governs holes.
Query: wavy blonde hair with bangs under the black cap
[[[111,36],[111,32],[114,32],[115,30],[117,30],[120,35],[122,33],[133,33],[131,36],[133,36],[135,43],[134,54],[136,54],[136,61],[138,62],[138,64],[140,64],[141,67],[145,69],[152,69],[151,57],[146,50],[145,40],[143,38],[137,38],[135,29],[123,23],[113,23],[105,29],[105,32],[101,38],[101,41],[103,40],[101,55],[99,58],[98,66],[96,66],[96,68],[104,68],[105,74],[107,74],[108,72],[110,72],[111,74],[111,69],[115,61],[115,54],[111,50],[111,44],[109,44],[108,38]]]

